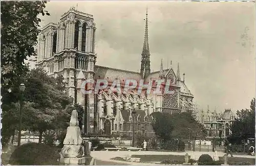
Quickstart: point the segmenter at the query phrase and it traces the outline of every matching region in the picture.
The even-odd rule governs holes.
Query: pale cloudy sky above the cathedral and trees
[[[139,71],[148,8],[151,70],[170,61],[199,108],[249,108],[255,96],[255,3],[51,1],[41,26],[59,22],[70,7],[92,14],[96,65]],[[183,77],[183,75],[182,75]]]

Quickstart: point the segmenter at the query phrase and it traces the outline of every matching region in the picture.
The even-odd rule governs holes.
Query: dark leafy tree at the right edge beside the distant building
[[[255,137],[255,98],[251,100],[250,109],[237,111],[231,131],[232,134],[227,139],[232,144],[245,145],[247,139]]]

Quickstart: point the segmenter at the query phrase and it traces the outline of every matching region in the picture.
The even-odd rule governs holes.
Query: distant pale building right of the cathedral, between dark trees
[[[230,129],[231,124],[236,118],[231,109],[225,109],[224,113],[210,112],[209,107],[206,112],[201,110],[198,113],[198,121],[207,129],[207,137],[227,137],[232,132]]]

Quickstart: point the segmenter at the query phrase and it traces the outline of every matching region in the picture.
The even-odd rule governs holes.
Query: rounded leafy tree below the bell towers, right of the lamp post
[[[61,89],[56,88],[62,87],[59,77],[49,77],[42,69],[31,70],[27,75],[27,80],[24,98],[25,101],[31,103],[31,107],[25,109],[26,127],[31,131],[39,132],[40,143],[43,132],[61,128],[62,123],[67,123],[62,120],[65,120],[63,117],[67,115],[65,108],[72,103],[73,99]],[[56,82],[58,83],[56,84]]]

